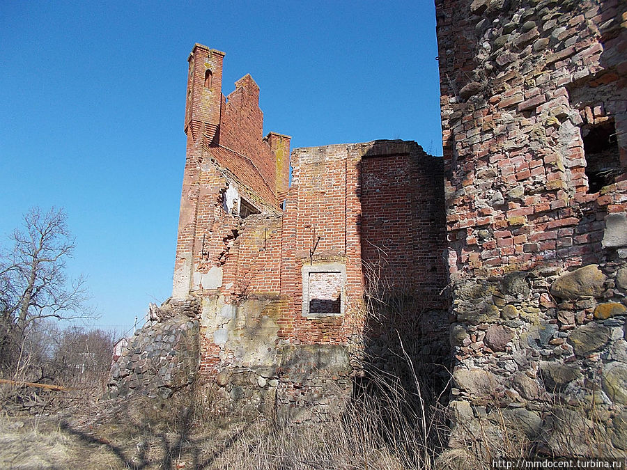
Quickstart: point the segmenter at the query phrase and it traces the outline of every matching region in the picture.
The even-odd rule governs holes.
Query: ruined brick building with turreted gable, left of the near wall
[[[189,56],[173,295],[161,310],[196,309],[199,373],[233,400],[323,414],[383,334],[366,322],[369,295],[419,299],[442,331],[442,158],[412,141],[290,158],[289,136],[263,137],[250,75],[222,95],[223,58],[199,44]],[[279,406],[291,408],[311,414]]]

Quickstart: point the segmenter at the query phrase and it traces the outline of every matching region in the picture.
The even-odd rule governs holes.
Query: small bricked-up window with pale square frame
[[[341,263],[304,265],[302,268],[302,315],[323,317],[344,311],[346,269]]]

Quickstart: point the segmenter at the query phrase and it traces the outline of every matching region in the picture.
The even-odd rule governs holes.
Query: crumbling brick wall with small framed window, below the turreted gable
[[[331,390],[350,394],[348,373],[333,370],[355,371],[364,351],[383,355],[373,347],[383,330],[366,324],[366,286],[420,299],[415,311],[399,312],[411,324],[407,338],[424,327],[412,322],[417,311],[428,310],[428,322],[438,325],[430,333],[440,342],[445,324],[442,159],[414,142],[374,141],[297,149],[292,164],[284,213],[238,221],[220,254],[222,285],[196,291],[203,296],[201,373],[219,376],[234,400],[263,407],[272,399],[292,407]],[[316,354],[307,368],[318,368],[320,379],[308,373],[302,382],[294,372],[300,366],[281,366],[287,357],[302,363],[310,350]],[[327,359],[316,359],[329,354],[332,371]],[[330,387],[326,373],[339,382]],[[277,380],[278,388],[266,390]],[[324,401],[315,416],[325,415]]]

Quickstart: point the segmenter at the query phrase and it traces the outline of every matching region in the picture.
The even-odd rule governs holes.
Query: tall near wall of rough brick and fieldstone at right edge
[[[626,3],[435,3],[450,444],[505,419],[541,452],[624,456]]]

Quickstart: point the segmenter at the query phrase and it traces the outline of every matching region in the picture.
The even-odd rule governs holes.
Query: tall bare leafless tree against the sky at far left
[[[65,219],[63,210],[32,208],[10,235],[11,246],[0,253],[0,352],[5,359],[16,345],[23,349],[29,331],[42,320],[94,316],[84,278],[70,280],[65,274],[75,248]]]

